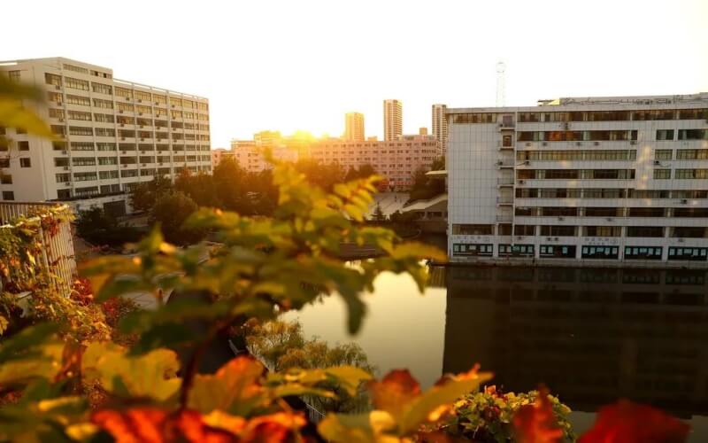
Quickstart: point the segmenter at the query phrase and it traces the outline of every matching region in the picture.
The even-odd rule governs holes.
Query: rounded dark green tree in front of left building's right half
[[[203,229],[185,228],[184,221],[198,206],[183,192],[162,194],[150,211],[150,224],[159,223],[167,240],[176,245],[190,245],[204,237]]]

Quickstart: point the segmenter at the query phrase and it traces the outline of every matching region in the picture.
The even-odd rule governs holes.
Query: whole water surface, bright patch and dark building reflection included
[[[362,329],[342,299],[305,307],[308,336],[357,342],[379,376],[408,368],[422,385],[475,362],[504,391],[550,387],[583,431],[596,409],[627,398],[689,421],[708,441],[708,272],[596,268],[430,268],[379,276]]]

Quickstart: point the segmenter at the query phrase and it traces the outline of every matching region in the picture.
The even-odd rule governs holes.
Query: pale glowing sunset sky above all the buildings
[[[708,1],[4,2],[0,60],[67,57],[208,97],[212,147],[262,129],[339,136],[344,113],[404,132],[430,105],[708,91]]]

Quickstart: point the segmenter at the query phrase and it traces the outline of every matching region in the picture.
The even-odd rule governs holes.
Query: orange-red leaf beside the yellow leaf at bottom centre
[[[405,405],[420,395],[420,385],[408,369],[394,369],[380,382],[367,384],[372,394],[373,407],[398,416]]]

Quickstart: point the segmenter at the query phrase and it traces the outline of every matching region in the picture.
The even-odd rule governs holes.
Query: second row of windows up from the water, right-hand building
[[[558,226],[541,225],[536,229],[535,225],[513,225],[513,235],[520,237],[543,236],[543,237],[577,237],[578,229],[581,229],[582,237],[622,237],[623,227],[621,226]],[[708,228],[694,226],[676,226],[668,228],[669,236],[672,238],[705,238],[708,237]],[[500,224],[495,229],[493,224],[453,224],[453,235],[473,235],[491,236],[495,230],[499,236],[511,236],[512,225]],[[664,237],[664,227],[661,226],[627,226],[625,237]]]

